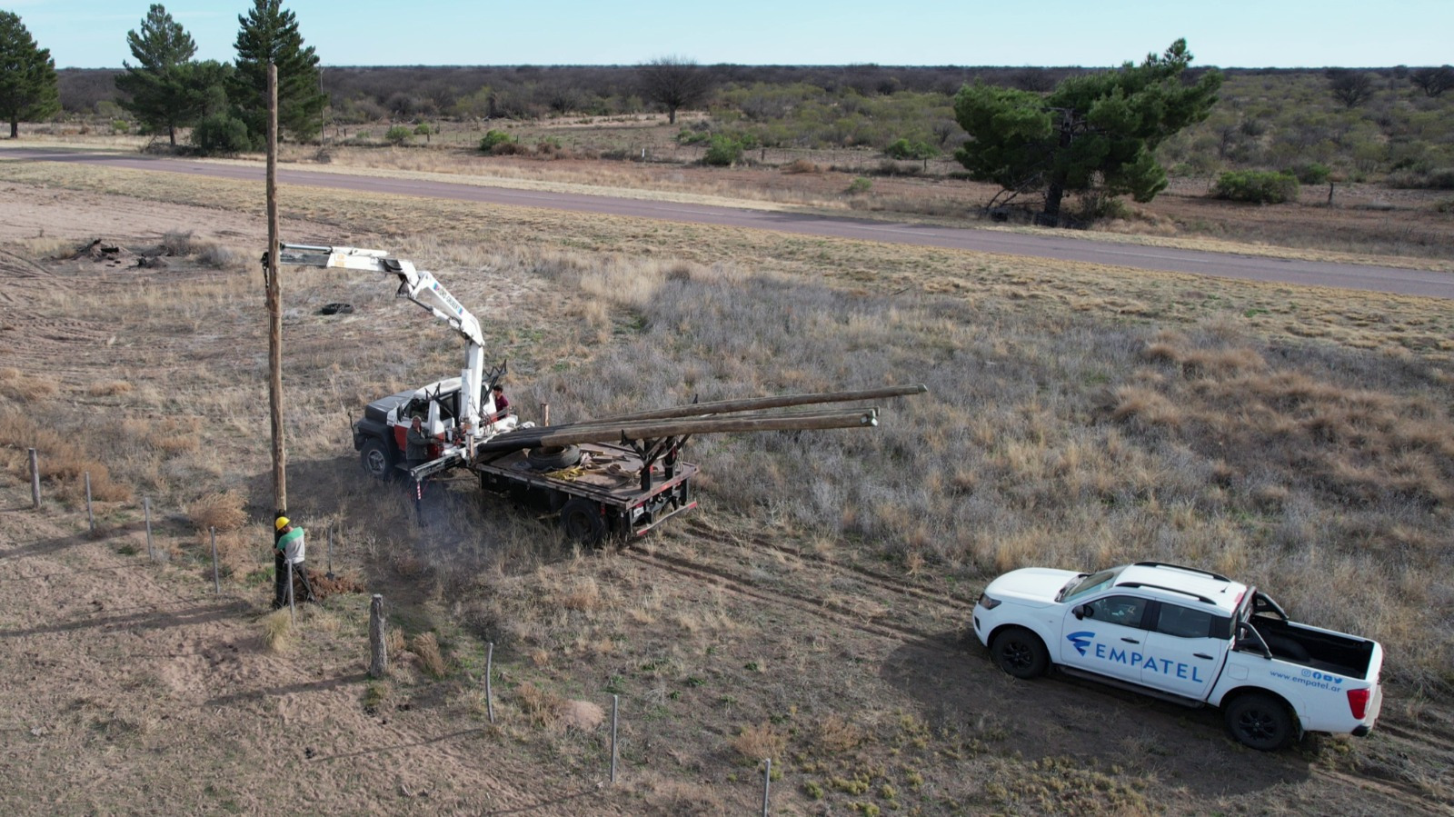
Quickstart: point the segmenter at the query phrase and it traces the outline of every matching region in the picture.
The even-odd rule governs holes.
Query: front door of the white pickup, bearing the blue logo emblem
[[[1075,605],[1066,611],[1057,661],[1140,683],[1147,637],[1141,621],[1149,606],[1150,600],[1125,593]]]

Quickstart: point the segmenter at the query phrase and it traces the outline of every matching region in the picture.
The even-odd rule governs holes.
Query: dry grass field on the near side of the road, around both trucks
[[[526,416],[929,387],[872,430],[692,440],[702,507],[630,550],[464,478],[422,528],[348,423],[455,337],[385,281],[285,270],[289,510],[388,599],[369,680],[365,595],[268,609],[260,186],[0,161],[0,192],[6,813],[747,814],[763,757],[774,814],[1454,807],[1447,302],[285,189],[288,240],[435,270]],[[1381,640],[1380,728],[1264,756],[1214,712],[1012,682],[967,631],[1002,570],[1133,558]]]

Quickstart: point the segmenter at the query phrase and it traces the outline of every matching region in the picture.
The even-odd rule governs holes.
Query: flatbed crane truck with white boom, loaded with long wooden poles
[[[419,496],[429,477],[465,468],[486,491],[557,513],[566,535],[587,544],[640,536],[696,507],[691,480],[698,467],[680,458],[692,435],[872,427],[878,424],[877,408],[817,406],[926,391],[904,385],[723,400],[535,426],[497,410],[491,387],[506,365],[486,371],[480,321],[432,273],[384,250],[358,247],[284,243],[278,262],[394,276],[400,298],[423,307],[465,340],[459,377],[400,391],[364,408],[364,417],[352,424],[364,471],[378,480],[407,475]],[[813,407],[792,408],[798,406]],[[775,408],[788,410],[769,413]],[[439,443],[427,462],[409,468],[401,461],[413,417]]]

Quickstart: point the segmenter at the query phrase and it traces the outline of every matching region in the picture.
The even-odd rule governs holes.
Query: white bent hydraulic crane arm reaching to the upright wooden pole
[[[294,266],[358,269],[398,278],[400,298],[409,298],[436,318],[449,324],[467,342],[465,365],[459,371],[461,394],[464,397],[464,419],[475,439],[489,436],[480,422],[484,385],[484,336],[480,320],[464,308],[454,295],[429,272],[414,269],[403,259],[390,257],[385,250],[364,250],[359,247],[316,247],[310,244],[279,244],[278,263]]]

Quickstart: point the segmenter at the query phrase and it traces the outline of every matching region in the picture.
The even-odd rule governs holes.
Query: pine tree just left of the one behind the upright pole
[[[131,99],[121,106],[153,129],[166,128],[176,147],[177,128],[196,122],[208,102],[208,89],[196,87],[204,79],[192,64],[196,44],[160,3],[147,12],[140,33],[126,32],[126,44],[138,65],[122,63],[126,73],[116,77],[116,89]]]

